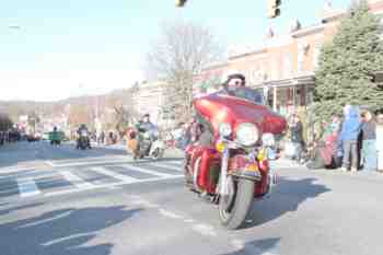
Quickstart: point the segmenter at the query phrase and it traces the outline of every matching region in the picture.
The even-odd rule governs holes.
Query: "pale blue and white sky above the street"
[[[268,27],[318,23],[325,0],[0,0],[0,100],[56,101],[141,81],[146,54],[164,22],[208,26],[227,48],[257,45]],[[333,0],[345,9],[349,0]],[[20,28],[15,28],[20,26]]]

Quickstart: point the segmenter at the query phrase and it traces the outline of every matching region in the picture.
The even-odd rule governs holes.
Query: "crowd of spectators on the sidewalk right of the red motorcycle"
[[[383,114],[347,105],[344,115],[334,114],[332,123],[323,123],[323,134],[306,144],[303,125],[293,115],[289,125],[290,141],[286,154],[309,169],[343,171],[383,170]]]

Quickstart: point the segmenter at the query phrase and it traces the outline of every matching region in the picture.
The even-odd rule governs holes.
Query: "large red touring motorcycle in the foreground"
[[[186,148],[186,185],[219,205],[225,228],[237,229],[253,201],[276,184],[268,161],[287,121],[265,105],[262,93],[249,88],[209,94],[193,103],[212,143],[197,138]]]

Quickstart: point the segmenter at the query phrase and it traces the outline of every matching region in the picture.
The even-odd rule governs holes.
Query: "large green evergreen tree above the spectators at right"
[[[352,5],[332,42],[323,46],[316,71],[316,120],[341,113],[345,105],[383,108],[383,89],[371,81],[383,71],[380,18],[371,14],[364,0]]]

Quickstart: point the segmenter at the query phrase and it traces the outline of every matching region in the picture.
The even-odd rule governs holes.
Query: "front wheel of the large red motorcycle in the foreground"
[[[246,219],[254,200],[254,182],[239,178],[234,182],[228,177],[228,196],[221,196],[219,201],[219,216],[222,225],[229,230],[240,228]]]

